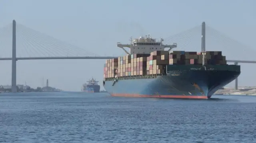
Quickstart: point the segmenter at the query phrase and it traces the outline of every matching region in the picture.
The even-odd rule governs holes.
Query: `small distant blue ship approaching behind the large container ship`
[[[100,92],[100,85],[98,85],[99,81],[96,81],[94,78],[87,81],[87,83],[83,84],[82,91],[83,92]]]

